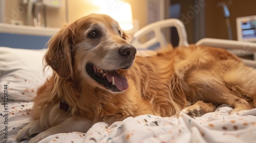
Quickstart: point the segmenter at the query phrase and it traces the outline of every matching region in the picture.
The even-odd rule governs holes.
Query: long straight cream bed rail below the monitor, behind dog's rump
[[[239,50],[240,53],[254,52],[254,60],[242,59],[242,61],[245,63],[245,65],[256,68],[256,43],[225,39],[203,38],[199,40],[196,44],[222,47],[223,49],[228,50]]]

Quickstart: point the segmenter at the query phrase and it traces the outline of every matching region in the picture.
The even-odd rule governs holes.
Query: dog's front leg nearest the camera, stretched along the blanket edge
[[[88,118],[74,119],[73,117],[67,118],[67,120],[60,124],[53,126],[44,132],[39,133],[35,137],[29,140],[29,143],[38,142],[50,135],[57,133],[69,133],[69,132],[83,132],[86,133],[92,127],[92,121]]]

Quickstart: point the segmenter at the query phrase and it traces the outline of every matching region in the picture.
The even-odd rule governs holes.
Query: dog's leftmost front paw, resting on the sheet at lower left
[[[31,122],[29,125],[25,126],[24,128],[20,129],[16,135],[16,139],[21,142],[32,137],[35,137],[38,133],[42,130],[40,128],[39,122]]]

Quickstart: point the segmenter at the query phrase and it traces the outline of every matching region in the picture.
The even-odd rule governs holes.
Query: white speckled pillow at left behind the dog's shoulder
[[[5,87],[8,100],[32,101],[39,86],[52,74],[43,71],[42,57],[46,50],[0,47],[0,95],[4,100]]]

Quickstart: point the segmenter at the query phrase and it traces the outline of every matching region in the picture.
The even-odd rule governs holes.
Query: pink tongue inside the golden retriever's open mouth
[[[125,77],[117,74],[114,71],[106,71],[106,78],[109,82],[112,82],[112,78],[114,77],[116,87],[119,90],[126,90],[129,87],[128,81]]]

